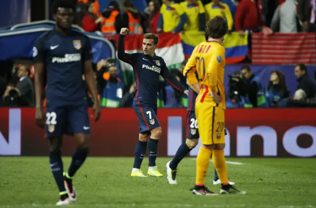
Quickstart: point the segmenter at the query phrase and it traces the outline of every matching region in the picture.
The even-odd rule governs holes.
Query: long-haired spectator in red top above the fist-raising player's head
[[[158,20],[160,16],[160,4],[158,0],[149,1],[148,7],[144,12],[146,33],[157,33]]]

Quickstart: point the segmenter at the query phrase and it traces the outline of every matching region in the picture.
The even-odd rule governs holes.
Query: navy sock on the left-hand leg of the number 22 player
[[[64,175],[63,175],[64,168],[63,168],[63,161],[61,159],[60,151],[49,153],[49,166],[55,178],[60,195],[67,194],[67,191],[64,185]]]

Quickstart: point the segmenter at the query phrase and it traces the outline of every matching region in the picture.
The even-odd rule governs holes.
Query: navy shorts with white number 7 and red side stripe
[[[134,101],[133,108],[139,121],[139,133],[148,132],[160,127],[157,119],[157,105]]]

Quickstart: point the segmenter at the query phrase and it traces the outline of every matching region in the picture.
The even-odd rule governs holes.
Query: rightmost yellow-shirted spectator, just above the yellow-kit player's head
[[[208,19],[212,19],[215,16],[222,16],[227,20],[228,30],[232,31],[234,21],[232,12],[226,3],[220,2],[220,0],[212,0],[210,3],[205,5],[205,10]]]

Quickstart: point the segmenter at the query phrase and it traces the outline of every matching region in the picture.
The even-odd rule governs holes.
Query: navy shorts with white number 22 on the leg
[[[46,138],[73,136],[77,133],[90,135],[90,121],[86,104],[53,105],[46,107]]]

